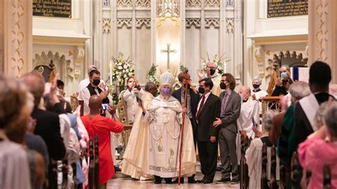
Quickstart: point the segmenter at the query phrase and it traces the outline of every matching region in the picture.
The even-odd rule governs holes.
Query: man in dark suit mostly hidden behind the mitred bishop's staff
[[[182,86],[185,86],[186,84],[188,85],[188,80],[190,80],[190,75],[188,75],[187,72],[181,72],[178,75],[178,80],[181,83]],[[175,90],[172,93],[172,96],[178,99],[178,101],[183,104],[185,103],[185,89],[184,87],[181,87],[178,90]],[[197,111],[197,106],[198,106],[198,100],[199,100],[199,94],[198,92],[195,93],[192,89],[191,86],[188,85],[187,87],[187,97],[186,97],[186,108],[187,112],[186,115],[191,121],[192,124],[192,129],[193,129],[193,141],[194,141],[194,146],[196,147],[196,133],[197,133],[197,124],[196,124],[196,111]],[[174,180],[173,183],[178,183],[178,179]],[[183,183],[183,178],[181,178],[181,183]],[[191,177],[188,177],[188,183],[196,183],[196,180],[194,180],[194,175]]]

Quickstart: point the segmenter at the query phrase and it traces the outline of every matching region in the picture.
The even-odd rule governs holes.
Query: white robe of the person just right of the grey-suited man
[[[260,107],[256,100],[250,97],[247,102],[242,102],[240,117],[237,119],[237,126],[239,130],[247,132],[248,137],[254,139],[255,133],[252,131],[252,119],[258,124],[260,120]]]

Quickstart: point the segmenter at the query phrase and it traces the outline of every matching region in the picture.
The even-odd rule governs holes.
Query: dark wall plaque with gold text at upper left
[[[71,18],[72,0],[33,0],[33,16]]]

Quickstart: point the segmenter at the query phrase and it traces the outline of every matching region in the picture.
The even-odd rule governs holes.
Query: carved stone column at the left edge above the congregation
[[[0,72],[19,77],[32,70],[32,0],[0,0]]]

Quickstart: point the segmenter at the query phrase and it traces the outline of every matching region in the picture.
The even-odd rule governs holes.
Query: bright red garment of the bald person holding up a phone
[[[89,137],[95,138],[98,135],[98,148],[100,152],[100,184],[107,183],[114,177],[114,162],[111,153],[110,132],[120,133],[124,126],[119,121],[114,121],[108,117],[102,117],[97,114],[90,119],[89,115],[81,117]]]

